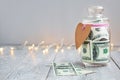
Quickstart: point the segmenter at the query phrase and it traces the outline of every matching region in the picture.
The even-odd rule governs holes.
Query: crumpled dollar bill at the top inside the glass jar
[[[109,33],[107,30],[107,27],[92,27],[89,39],[93,41],[109,40]]]

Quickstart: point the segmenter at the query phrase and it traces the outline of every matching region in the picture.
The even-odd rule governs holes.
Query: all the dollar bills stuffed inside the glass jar
[[[82,45],[82,60],[91,63],[106,63],[110,53],[109,31],[107,27],[92,27]]]

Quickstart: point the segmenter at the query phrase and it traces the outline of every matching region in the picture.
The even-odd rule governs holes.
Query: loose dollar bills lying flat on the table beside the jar
[[[53,63],[53,70],[56,76],[77,76],[94,73],[92,70],[75,66],[72,63]]]

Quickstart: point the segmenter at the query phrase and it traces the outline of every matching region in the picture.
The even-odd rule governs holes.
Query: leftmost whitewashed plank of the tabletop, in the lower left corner
[[[0,80],[4,80],[7,75],[11,74],[26,56],[25,51],[18,50],[15,51],[16,54],[11,55],[8,47],[4,49],[0,55]]]

